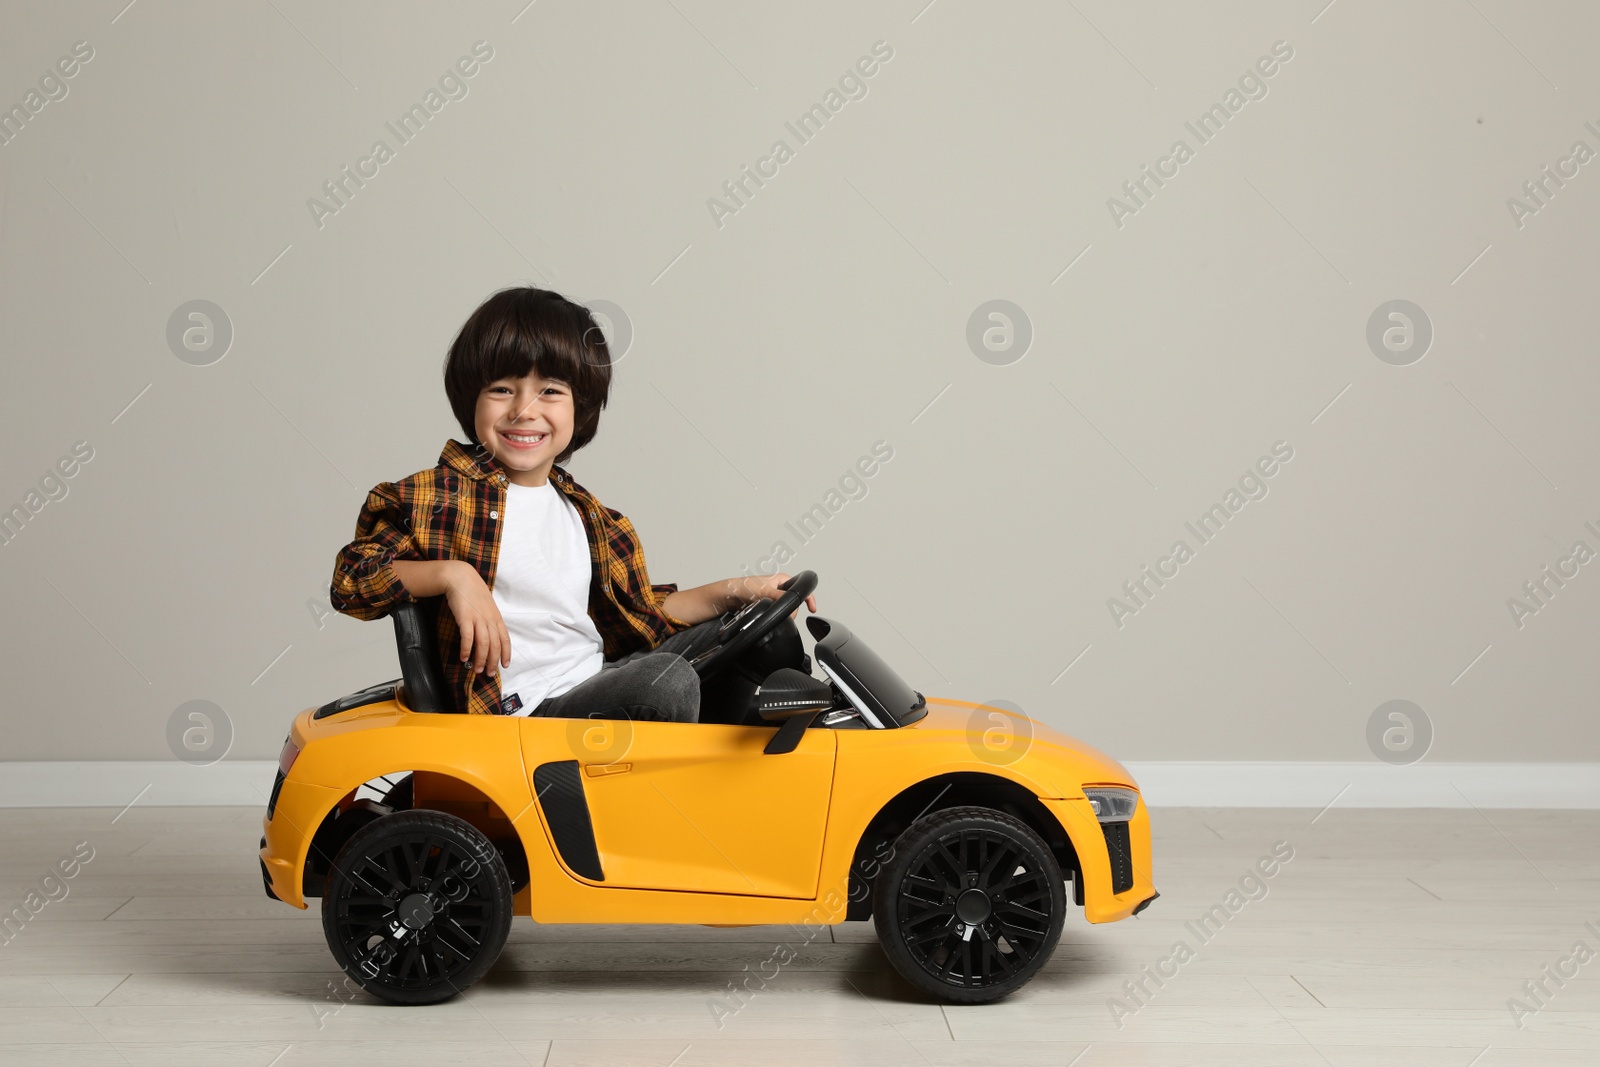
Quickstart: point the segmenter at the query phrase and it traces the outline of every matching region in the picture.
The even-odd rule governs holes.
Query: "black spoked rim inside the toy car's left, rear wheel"
[[[494,928],[486,864],[442,835],[374,841],[349,857],[338,881],[334,936],[352,974],[370,985],[454,987]]]

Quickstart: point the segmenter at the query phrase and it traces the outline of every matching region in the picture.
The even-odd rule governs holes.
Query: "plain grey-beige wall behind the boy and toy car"
[[[317,617],[333,553],[368,486],[459,435],[464,317],[534,283],[632,325],[571,467],[656,581],[786,541],[918,688],[1130,760],[1370,760],[1390,699],[1430,760],[1600,758],[1600,563],[1507,606],[1600,550],[1600,163],[1507,205],[1600,150],[1600,11],[1323,3],[6,5],[0,104],[93,59],[0,146],[0,506],[93,459],[0,549],[0,757],[170,758],[210,701],[230,758],[267,758],[298,709],[392,677],[387,624]],[[400,146],[384,123],[475,42],[493,59]],[[1200,144],[1184,123],[1275,42],[1266,96]],[[1114,221],[1178,139],[1194,158]],[[234,330],[205,366],[168,342],[195,299]],[[992,299],[1021,358],[968,344]],[[1434,334],[1406,365],[1368,342],[1395,299]],[[802,547],[784,523],[880,440]],[[1184,523],[1277,442],[1202,545]]]

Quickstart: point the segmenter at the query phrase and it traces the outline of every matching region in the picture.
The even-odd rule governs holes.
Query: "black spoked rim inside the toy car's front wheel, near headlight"
[[[986,989],[1026,973],[1051,926],[1051,885],[1024,843],[997,830],[946,833],[901,880],[899,936],[947,985]]]

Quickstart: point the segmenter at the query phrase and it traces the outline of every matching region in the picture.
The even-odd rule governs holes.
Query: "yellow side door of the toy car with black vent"
[[[816,896],[832,729],[808,729],[781,755],[762,752],[770,726],[526,718],[523,731],[546,827],[579,877],[613,888]]]

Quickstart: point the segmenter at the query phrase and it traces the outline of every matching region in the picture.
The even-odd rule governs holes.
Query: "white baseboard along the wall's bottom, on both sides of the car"
[[[1600,763],[1131,761],[1154,808],[1600,808]],[[266,806],[272,760],[0,763],[0,808]]]

